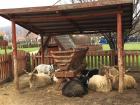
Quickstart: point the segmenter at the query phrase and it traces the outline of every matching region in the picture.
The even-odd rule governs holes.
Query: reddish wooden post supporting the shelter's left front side
[[[14,21],[12,21],[12,48],[13,48],[13,64],[14,64],[14,83],[15,83],[15,88],[18,90],[19,77],[18,77],[18,70],[17,70],[16,25]]]

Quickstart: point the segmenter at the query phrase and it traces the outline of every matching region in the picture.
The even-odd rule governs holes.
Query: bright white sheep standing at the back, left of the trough
[[[34,70],[37,70],[38,73],[45,73],[48,75],[51,75],[51,73],[55,71],[53,65],[47,65],[47,64],[40,64],[36,66]]]

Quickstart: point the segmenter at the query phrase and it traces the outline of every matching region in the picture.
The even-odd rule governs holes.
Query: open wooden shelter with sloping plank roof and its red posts
[[[12,21],[15,59],[17,56],[15,24],[40,34],[42,39],[44,36],[52,35],[117,32],[119,92],[123,91],[124,76],[122,33],[131,29],[132,14],[132,0],[99,0],[81,4],[0,9],[0,16]],[[43,40],[41,43],[43,44]],[[42,62],[43,52],[42,46]],[[18,84],[17,81],[16,83]]]

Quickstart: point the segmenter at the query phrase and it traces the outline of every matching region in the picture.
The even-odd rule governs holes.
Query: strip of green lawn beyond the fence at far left
[[[34,52],[34,51],[38,51],[38,47],[32,47],[32,48],[18,48],[18,50],[23,50],[23,51],[26,51],[26,52]],[[12,52],[12,49],[7,49],[7,53],[10,53]],[[3,49],[0,49],[0,54],[4,54],[5,51]]]

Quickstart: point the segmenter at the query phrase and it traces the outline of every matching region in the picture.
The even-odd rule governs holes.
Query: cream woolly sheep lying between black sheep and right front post
[[[109,92],[112,90],[111,78],[109,77],[108,73],[106,73],[104,76],[93,75],[89,79],[88,87],[89,89],[92,89],[98,92]]]

